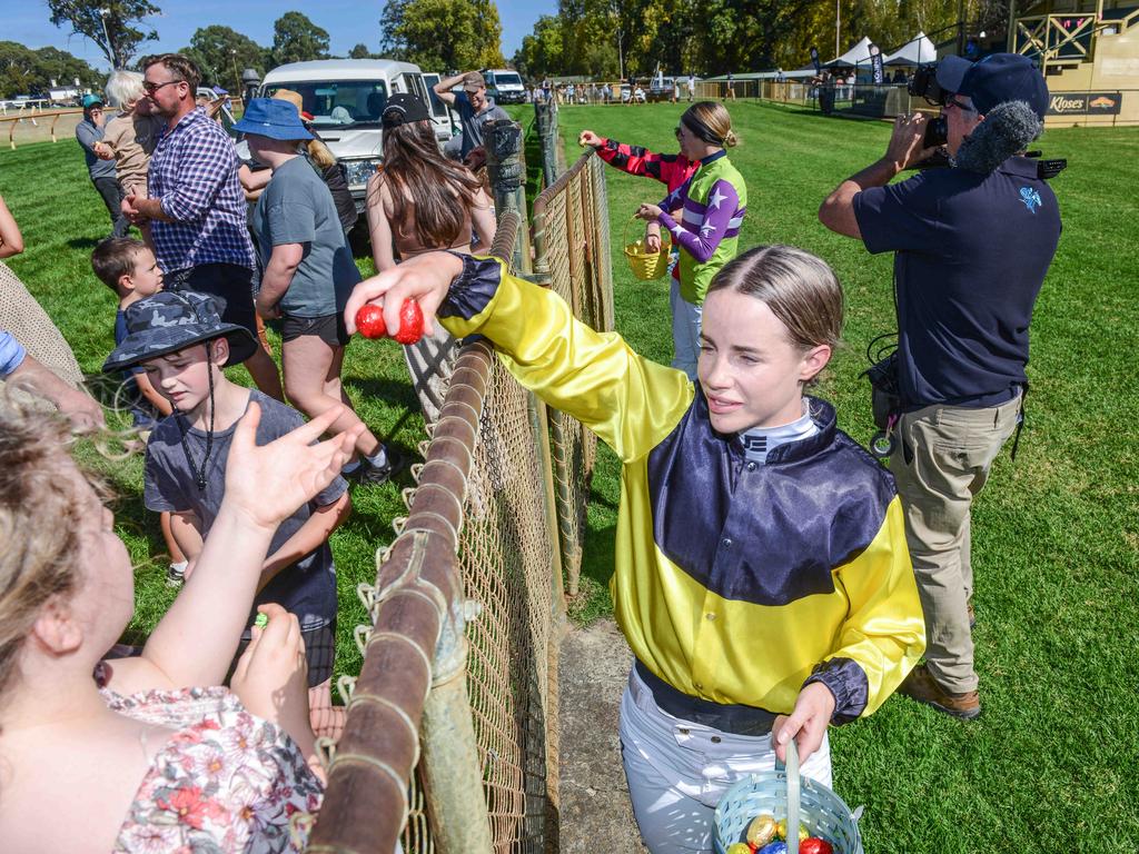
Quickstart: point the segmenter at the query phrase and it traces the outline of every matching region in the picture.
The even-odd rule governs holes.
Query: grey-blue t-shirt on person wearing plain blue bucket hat
[[[296,318],[344,311],[360,281],[360,270],[347,247],[333,194],[306,158],[294,157],[273,172],[253,212],[253,230],[267,266],[273,246],[304,246],[281,311]]]

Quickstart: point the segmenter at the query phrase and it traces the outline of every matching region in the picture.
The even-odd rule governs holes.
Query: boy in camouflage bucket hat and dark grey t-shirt
[[[173,515],[174,536],[190,560],[189,575],[226,494],[226,460],[235,426],[249,402],[261,405],[259,445],[284,436],[303,419],[290,407],[226,378],[222,368],[248,359],[257,345],[244,327],[221,321],[213,297],[192,291],[156,294],[126,310],[126,330],[103,369],[141,364],[173,404],[173,418],[159,421],[147,443],[144,502],[150,510]],[[277,602],[300,619],[317,734],[333,734],[343,714],[331,708],[336,568],[328,537],[350,511],[347,484],[337,477],[281,523],[249,613],[252,626],[257,605]],[[243,648],[249,637],[247,627]]]

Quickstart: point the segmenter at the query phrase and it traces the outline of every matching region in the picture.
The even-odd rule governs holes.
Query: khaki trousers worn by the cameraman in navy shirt
[[[906,510],[906,541],[926,622],[926,663],[947,691],[977,689],[967,602],[973,596],[969,509],[1001,445],[1016,429],[1021,396],[988,409],[926,407],[898,422],[890,458]]]

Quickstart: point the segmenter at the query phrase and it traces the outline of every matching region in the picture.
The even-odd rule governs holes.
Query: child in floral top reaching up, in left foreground
[[[352,450],[354,430],[313,444],[335,417],[257,446],[249,404],[197,569],[141,655],[106,660],[134,613],[106,491],[62,419],[0,399],[6,851],[301,851],[322,772],[297,618],[260,606],[268,625],[220,685],[273,532]]]

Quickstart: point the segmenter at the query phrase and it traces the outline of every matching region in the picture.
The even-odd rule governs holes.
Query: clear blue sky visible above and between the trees
[[[199,26],[222,24],[237,30],[259,44],[273,41],[273,22],[286,11],[302,11],[314,24],[328,31],[333,54],[346,55],[363,42],[379,50],[379,14],[383,0],[151,0],[162,15],[147,23],[158,31],[157,42],[145,42],[140,50],[157,52],[177,50],[189,44]],[[0,40],[16,41],[30,48],[55,47],[85,59],[96,68],[109,69],[99,49],[81,35],[72,35],[69,26],[56,27],[49,20],[48,5],[42,0],[17,0],[5,3],[5,26]],[[502,22],[502,54],[509,59],[522,47],[522,38],[532,32],[541,15],[557,11],[557,0],[498,0]]]

